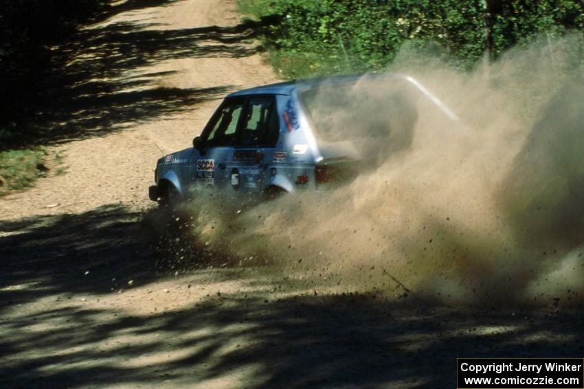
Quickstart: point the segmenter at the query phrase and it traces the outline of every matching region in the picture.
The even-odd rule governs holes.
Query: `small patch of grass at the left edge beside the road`
[[[46,157],[42,148],[0,152],[0,196],[30,187],[37,178],[45,176]]]

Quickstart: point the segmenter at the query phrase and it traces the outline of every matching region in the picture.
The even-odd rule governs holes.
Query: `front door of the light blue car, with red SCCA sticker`
[[[221,189],[229,184],[227,164],[233,160],[244,102],[243,97],[225,99],[205,126],[201,134],[203,146],[194,152],[189,169],[196,186]]]

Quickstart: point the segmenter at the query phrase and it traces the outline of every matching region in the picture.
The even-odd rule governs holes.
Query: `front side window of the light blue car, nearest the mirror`
[[[226,101],[207,128],[207,146],[227,146],[235,141],[237,123],[243,110],[243,99]]]

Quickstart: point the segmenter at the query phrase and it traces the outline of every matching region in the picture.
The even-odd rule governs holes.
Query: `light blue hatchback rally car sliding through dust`
[[[384,98],[357,97],[380,85]],[[158,160],[150,200],[175,202],[197,187],[271,198],[347,182],[376,166],[381,154],[411,143],[415,95],[434,99],[416,80],[397,74],[283,82],[231,93],[192,147]]]

